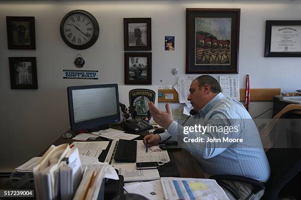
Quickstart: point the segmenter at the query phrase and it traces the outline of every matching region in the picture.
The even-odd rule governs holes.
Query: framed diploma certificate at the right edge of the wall
[[[267,21],[265,57],[301,57],[301,21]]]

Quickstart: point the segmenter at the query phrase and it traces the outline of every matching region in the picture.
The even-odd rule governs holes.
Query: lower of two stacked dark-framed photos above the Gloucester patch
[[[151,84],[151,53],[124,53],[124,84]]]

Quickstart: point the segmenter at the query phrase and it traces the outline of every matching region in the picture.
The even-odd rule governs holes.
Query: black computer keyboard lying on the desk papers
[[[136,162],[137,141],[119,140],[115,151],[114,160],[121,162]]]

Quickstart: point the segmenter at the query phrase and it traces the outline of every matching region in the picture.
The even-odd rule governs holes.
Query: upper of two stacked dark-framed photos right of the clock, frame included
[[[124,50],[151,50],[151,18],[123,18]]]

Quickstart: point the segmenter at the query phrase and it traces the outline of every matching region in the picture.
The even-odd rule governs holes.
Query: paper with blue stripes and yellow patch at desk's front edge
[[[165,200],[229,200],[213,179],[161,177]]]

